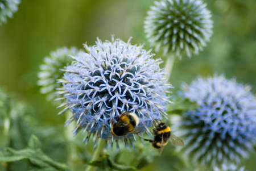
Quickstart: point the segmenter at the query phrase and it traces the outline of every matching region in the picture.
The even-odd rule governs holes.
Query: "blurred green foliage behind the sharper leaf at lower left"
[[[8,96],[5,95],[5,97]],[[10,103],[10,98],[7,99]],[[7,146],[11,149],[23,149],[28,143],[31,147],[36,147],[39,143],[36,143],[35,139],[30,139],[32,134],[36,134],[40,139],[43,139],[42,148],[48,155],[54,157],[54,159],[65,160],[66,156],[63,156],[66,152],[65,144],[63,144],[65,141],[63,128],[60,129],[57,126],[47,126],[44,123],[38,122],[38,120],[35,119],[35,112],[31,107],[24,105],[24,103],[12,101],[8,108],[8,110],[5,110],[6,112],[0,113],[0,116],[5,116],[4,120],[8,122],[7,128],[6,124],[4,124],[3,129],[1,127],[0,130],[0,150]],[[2,109],[3,108],[1,107],[0,110],[2,111]],[[0,122],[2,122],[2,119]],[[28,166],[29,163],[27,160],[20,160],[10,163],[7,168],[9,168],[9,170],[17,170],[17,168],[19,168],[19,170],[27,170]],[[2,168],[5,168],[5,166],[0,165],[0,170]]]

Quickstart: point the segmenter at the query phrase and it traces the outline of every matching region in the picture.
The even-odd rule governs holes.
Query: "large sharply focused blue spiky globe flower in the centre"
[[[141,46],[131,45],[112,38],[96,45],[84,45],[86,53],[73,56],[72,65],[65,68],[63,80],[65,109],[71,109],[73,116],[67,124],[75,120],[75,134],[84,130],[84,141],[94,135],[106,141],[123,139],[124,144],[132,144],[134,135],[114,137],[110,132],[112,124],[123,112],[134,112],[139,118],[138,127],[148,131],[153,120],[162,119],[171,87],[164,79],[160,59],[154,60],[150,51]],[[109,143],[109,144],[112,144]],[[130,144],[129,143],[129,144]],[[95,143],[96,144],[96,143]],[[118,141],[117,141],[118,145]],[[118,147],[118,146],[117,146]]]

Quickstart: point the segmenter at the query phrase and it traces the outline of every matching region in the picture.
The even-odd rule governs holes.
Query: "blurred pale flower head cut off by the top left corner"
[[[19,0],[0,0],[0,24],[18,10]]]

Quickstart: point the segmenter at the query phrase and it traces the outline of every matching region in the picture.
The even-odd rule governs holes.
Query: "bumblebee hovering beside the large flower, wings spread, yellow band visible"
[[[160,154],[162,153],[162,149],[167,145],[169,139],[172,145],[182,146],[184,145],[183,140],[179,137],[175,136],[171,132],[171,128],[168,127],[165,123],[160,122],[153,128],[154,132],[154,140],[144,139],[145,141],[149,141],[152,147],[160,149]]]

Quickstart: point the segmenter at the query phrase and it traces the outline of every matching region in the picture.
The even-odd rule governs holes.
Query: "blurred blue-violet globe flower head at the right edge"
[[[250,87],[216,74],[182,89],[181,96],[199,106],[176,124],[185,153],[203,165],[240,164],[255,143],[256,99]]]

